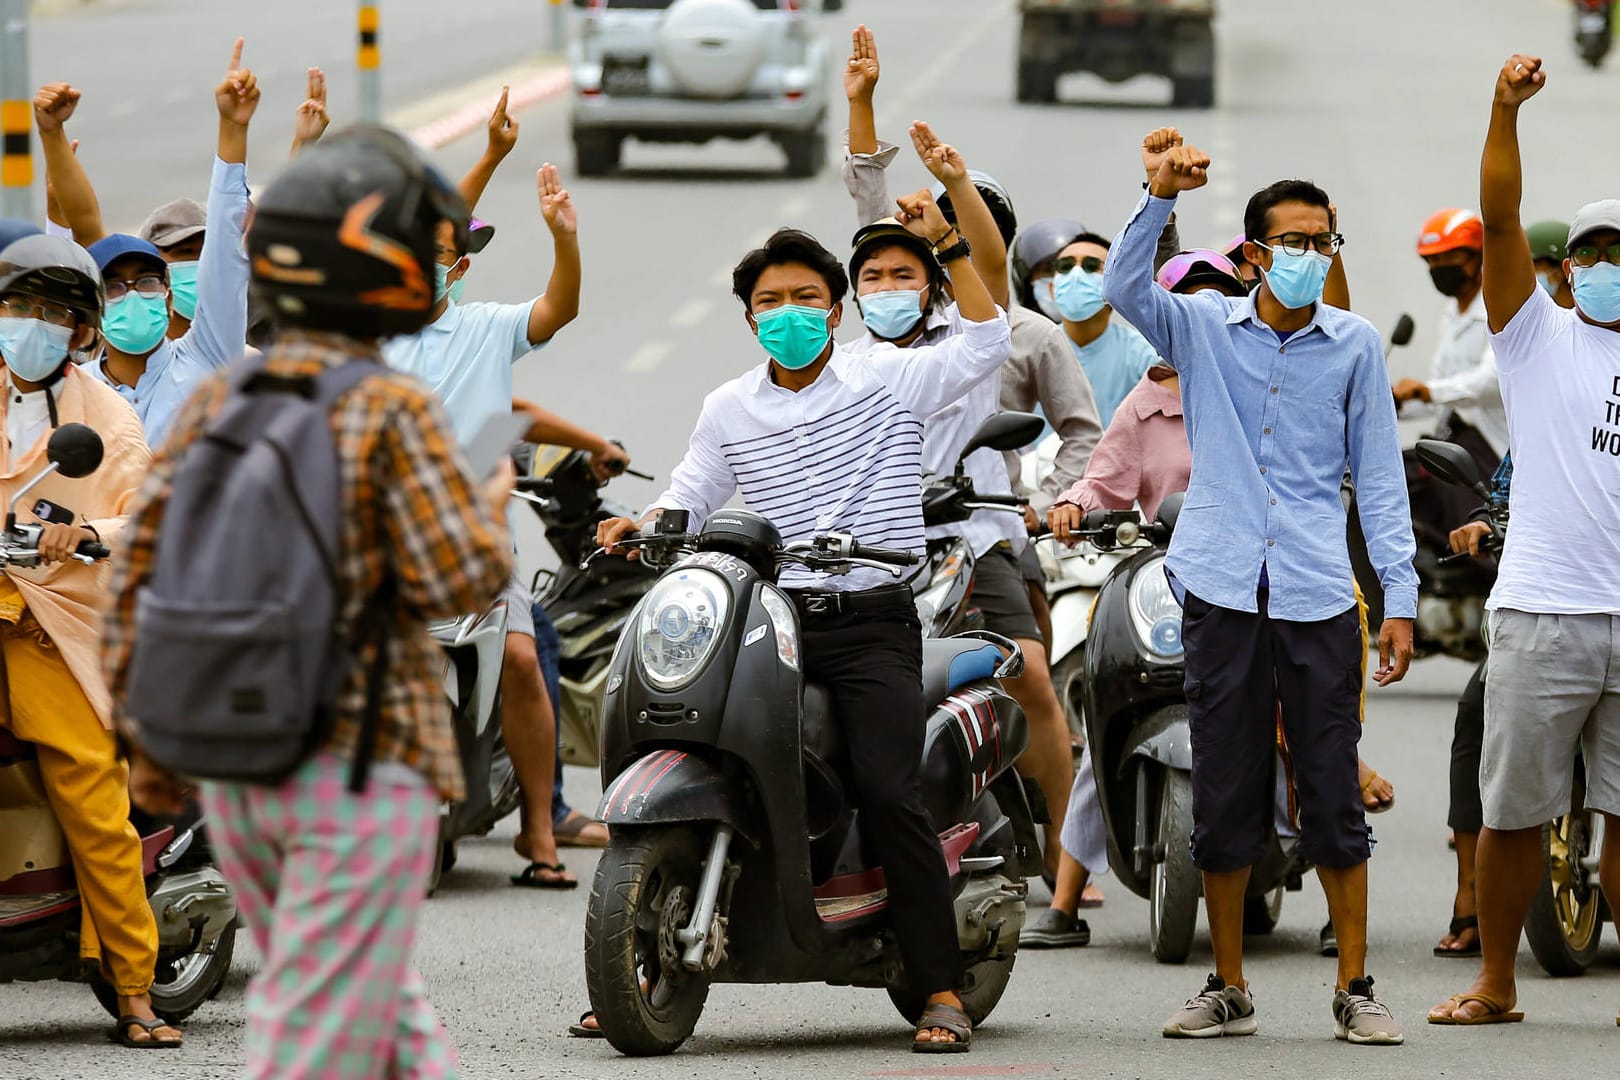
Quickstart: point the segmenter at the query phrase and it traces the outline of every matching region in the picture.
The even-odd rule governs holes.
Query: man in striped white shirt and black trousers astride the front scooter
[[[928,191],[897,199],[896,220],[951,277],[962,332],[936,345],[885,342],[850,355],[833,340],[849,287],[844,269],[807,233],[778,230],[732,275],[770,361],[708,395],[690,450],[643,526],[663,510],[687,510],[697,528],[740,489],[786,539],[847,529],[863,544],[923,552],[923,419],[993,377],[1011,335],[974,270],[970,244]],[[635,528],[614,518],[596,538],[612,551]],[[799,607],[805,678],[826,685],[849,740],[865,836],[888,878],[889,905],[902,913],[894,929],[907,978],[928,1001],[914,1049],[966,1049],[972,1028],[957,997],[949,882],[922,806],[922,625],[910,588],[862,568],[787,572],[782,586]]]

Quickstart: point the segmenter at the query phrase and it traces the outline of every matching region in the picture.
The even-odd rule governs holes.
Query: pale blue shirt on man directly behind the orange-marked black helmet
[[[382,343],[389,368],[407,371],[444,402],[455,437],[467,447],[491,416],[512,411],[512,364],[538,348],[528,340],[522,304],[450,304],[416,334]]]

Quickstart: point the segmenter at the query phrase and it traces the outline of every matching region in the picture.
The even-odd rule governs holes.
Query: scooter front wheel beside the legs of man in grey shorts
[[[1604,897],[1596,881],[1571,873],[1591,853],[1592,814],[1563,814],[1542,826],[1545,873],[1524,920],[1524,938],[1554,978],[1584,975],[1604,936]]]

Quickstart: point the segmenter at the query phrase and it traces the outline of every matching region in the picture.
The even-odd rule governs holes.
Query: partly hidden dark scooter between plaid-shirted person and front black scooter
[[[546,526],[546,541],[559,560],[557,570],[535,573],[533,593],[562,640],[562,701],[556,703],[562,761],[595,767],[608,661],[658,572],[625,559],[583,562],[596,547],[598,521],[635,513],[603,497],[588,453],[530,444],[518,453],[518,473],[531,478],[531,489],[517,497]]]

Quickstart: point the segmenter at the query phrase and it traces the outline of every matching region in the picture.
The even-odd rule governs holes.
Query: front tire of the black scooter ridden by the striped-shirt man
[[[669,942],[697,905],[705,847],[687,826],[614,827],[596,863],[585,910],[585,989],[603,1036],[620,1054],[671,1054],[703,1015],[710,980],[680,967]]]

